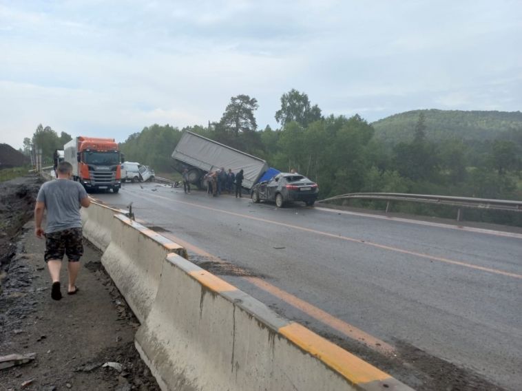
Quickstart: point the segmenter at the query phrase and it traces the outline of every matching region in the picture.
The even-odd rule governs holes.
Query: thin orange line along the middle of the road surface
[[[520,275],[520,274],[510,273],[510,272],[507,272],[507,271],[501,271],[501,270],[495,269],[495,268],[486,268],[484,266],[477,266],[477,265],[474,265],[474,264],[468,264],[466,262],[450,260],[450,259],[445,258],[445,257],[436,257],[435,255],[428,255],[428,254],[424,254],[424,253],[417,253],[416,251],[409,251],[409,250],[399,249],[398,247],[392,247],[392,246],[386,246],[384,244],[368,242],[366,240],[355,239],[354,237],[348,237],[348,236],[343,236],[343,235],[336,235],[334,233],[328,233],[328,232],[324,232],[324,231],[317,231],[315,229],[304,228],[303,226],[297,226],[297,225],[293,225],[293,224],[286,224],[284,222],[277,222],[277,221],[267,220],[267,219],[263,219],[263,218],[255,218],[253,216],[243,215],[241,213],[236,213],[236,212],[231,212],[231,211],[224,211],[222,209],[205,207],[204,205],[193,204],[191,202],[172,200],[171,198],[163,197],[162,195],[149,194],[148,196],[149,197],[152,196],[152,197],[156,197],[156,198],[162,198],[162,199],[165,199],[165,200],[178,202],[180,204],[187,204],[187,205],[191,205],[192,207],[198,207],[198,208],[201,208],[201,209],[207,209],[209,211],[216,211],[216,212],[220,212],[220,213],[225,213],[227,215],[234,215],[234,216],[237,216],[237,217],[240,217],[240,218],[247,218],[247,219],[250,219],[250,220],[265,222],[265,223],[268,223],[268,224],[285,226],[286,228],[297,229],[299,231],[315,233],[317,235],[333,237],[335,239],[346,240],[348,242],[355,242],[355,243],[359,243],[359,244],[365,244],[366,246],[373,246],[373,247],[377,247],[378,249],[394,251],[396,253],[403,253],[403,254],[408,254],[408,255],[414,255],[416,257],[421,257],[421,258],[425,258],[425,259],[432,260],[432,261],[439,261],[439,262],[443,262],[443,263],[446,263],[446,264],[454,264],[454,265],[463,266],[463,267],[466,267],[466,268],[472,268],[472,269],[475,269],[475,270],[486,271],[488,273],[494,273],[494,274],[498,274],[498,275],[505,275],[505,276],[508,276],[508,277],[514,277],[514,278],[522,279],[522,275]]]

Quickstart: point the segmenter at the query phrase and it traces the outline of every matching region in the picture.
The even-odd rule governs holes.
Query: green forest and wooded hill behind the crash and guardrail
[[[368,123],[359,115],[325,115],[295,89],[280,103],[274,113],[278,129],[258,129],[257,100],[238,95],[216,122],[182,129],[154,124],[130,135],[121,150],[128,161],[172,173],[172,151],[182,131],[189,130],[263,158],[280,171],[297,169],[319,184],[320,199],[358,192],[522,199],[521,112],[429,109]],[[45,129],[37,129],[35,137]],[[69,137],[55,134],[54,141]],[[394,208],[455,218],[449,208],[426,204]],[[467,218],[522,225],[518,214],[466,211]]]

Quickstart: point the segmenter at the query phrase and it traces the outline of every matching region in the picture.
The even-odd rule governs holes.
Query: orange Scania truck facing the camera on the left
[[[74,180],[87,191],[120,191],[122,159],[114,138],[79,136],[67,142],[63,149],[65,161],[72,165]]]

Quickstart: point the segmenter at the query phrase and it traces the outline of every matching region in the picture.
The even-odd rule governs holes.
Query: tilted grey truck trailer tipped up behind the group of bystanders
[[[234,173],[243,170],[243,187],[251,189],[269,169],[265,160],[227,147],[199,134],[185,131],[176,149],[172,152],[174,169],[183,172],[189,170],[189,182],[200,188],[206,185],[203,178],[210,171],[225,168]]]

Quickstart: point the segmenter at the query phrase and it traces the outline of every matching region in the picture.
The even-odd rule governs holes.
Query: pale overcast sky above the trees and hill
[[[369,122],[518,111],[521,21],[520,0],[0,0],[0,142],[207,125],[238,94],[275,128],[292,88]]]

